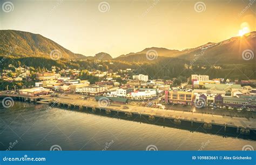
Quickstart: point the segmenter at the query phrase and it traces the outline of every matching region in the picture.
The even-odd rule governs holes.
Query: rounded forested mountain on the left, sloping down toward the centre
[[[57,42],[35,34],[16,30],[0,30],[0,55],[12,58],[44,57],[50,58],[52,51],[58,50],[64,59],[84,58],[60,46]]]

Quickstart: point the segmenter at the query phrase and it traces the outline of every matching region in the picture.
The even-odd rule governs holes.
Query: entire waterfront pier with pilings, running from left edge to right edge
[[[163,110],[153,107],[135,106],[129,104],[113,104],[106,107],[100,107],[100,104],[96,101],[88,101],[83,99],[69,99],[60,97],[28,97],[21,95],[1,94],[0,97],[12,97],[18,101],[28,101],[40,104],[48,104],[49,106],[59,106],[70,109],[86,110],[92,113],[105,113],[115,114],[117,116],[124,116],[127,119],[137,118],[140,120],[147,120],[150,122],[160,121],[162,123],[171,123],[174,125],[190,125],[201,126],[205,130],[212,130],[213,128],[223,128],[226,132],[232,130],[232,132],[238,134],[254,134],[256,132],[256,119],[243,118],[243,117],[230,117],[221,116],[217,114],[205,114],[196,112],[185,112],[175,110]]]

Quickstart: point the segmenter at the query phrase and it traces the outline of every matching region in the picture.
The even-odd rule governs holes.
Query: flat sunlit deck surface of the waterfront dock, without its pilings
[[[174,120],[183,121],[194,121],[197,123],[207,123],[212,125],[220,125],[227,127],[241,127],[247,128],[249,130],[256,130],[256,119],[254,118],[241,118],[241,117],[230,117],[230,116],[220,116],[216,114],[205,114],[205,113],[195,113],[195,112],[184,112],[184,111],[174,111],[174,110],[162,110],[152,107],[144,106],[134,106],[134,105],[122,105],[122,104],[110,104],[107,107],[100,107],[99,103],[96,101],[84,101],[84,100],[74,100],[67,98],[55,98],[55,103],[68,105],[68,106],[78,106],[78,107],[91,107],[93,109],[104,109],[116,112],[124,112],[127,114],[140,114],[149,117],[159,117],[159,118],[169,118]]]

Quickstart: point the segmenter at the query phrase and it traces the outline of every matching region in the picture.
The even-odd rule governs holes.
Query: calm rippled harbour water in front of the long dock
[[[256,141],[15,102],[0,109],[1,150],[241,150]]]

